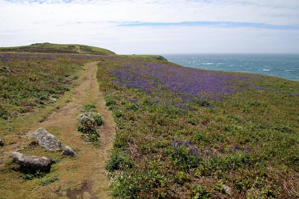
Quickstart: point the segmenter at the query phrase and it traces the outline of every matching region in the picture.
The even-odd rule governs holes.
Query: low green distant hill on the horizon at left
[[[93,46],[80,44],[51,44],[36,43],[29,46],[0,47],[0,52],[29,52],[29,53],[66,53],[66,54],[93,54],[116,55],[114,52]]]

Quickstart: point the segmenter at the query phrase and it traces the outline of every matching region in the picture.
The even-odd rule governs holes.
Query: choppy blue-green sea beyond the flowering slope
[[[164,54],[169,62],[182,66],[256,73],[299,81],[298,54]]]

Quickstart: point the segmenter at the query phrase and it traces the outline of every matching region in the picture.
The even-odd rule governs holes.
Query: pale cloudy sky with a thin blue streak
[[[0,47],[299,53],[299,0],[0,0]]]

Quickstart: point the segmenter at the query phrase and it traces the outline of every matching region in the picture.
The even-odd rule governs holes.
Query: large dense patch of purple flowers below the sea
[[[172,64],[154,64],[143,61],[133,61],[117,67],[112,74],[117,81],[112,83],[136,88],[146,93],[165,93],[178,97],[182,102],[176,107],[185,109],[185,102],[203,103],[205,101],[221,100],[224,95],[231,95],[247,89],[257,89],[250,82],[253,76],[215,71],[199,70]],[[261,88],[259,88],[261,89]]]

